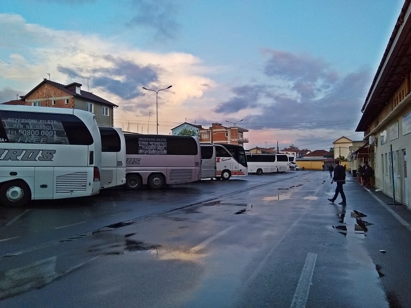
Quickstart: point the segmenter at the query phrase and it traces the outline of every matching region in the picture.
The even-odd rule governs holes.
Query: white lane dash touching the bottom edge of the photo
[[[294,298],[291,302],[291,308],[304,308],[307,303],[308,292],[310,291],[311,278],[314,273],[315,261],[317,254],[308,253],[305,259],[303,272],[300,280],[298,280],[297,288],[294,293]]]

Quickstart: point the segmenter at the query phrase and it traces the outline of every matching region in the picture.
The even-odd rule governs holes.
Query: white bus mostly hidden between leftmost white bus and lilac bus
[[[125,139],[121,128],[99,127],[101,136],[100,188],[125,184]]]

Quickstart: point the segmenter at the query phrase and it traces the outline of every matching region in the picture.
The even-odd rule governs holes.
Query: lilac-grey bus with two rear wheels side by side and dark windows
[[[126,189],[201,180],[201,149],[197,137],[124,134]]]

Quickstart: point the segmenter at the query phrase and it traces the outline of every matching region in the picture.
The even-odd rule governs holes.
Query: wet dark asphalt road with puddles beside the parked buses
[[[327,175],[114,189],[3,212],[0,303],[409,307],[409,211],[349,176],[347,206],[331,204]]]

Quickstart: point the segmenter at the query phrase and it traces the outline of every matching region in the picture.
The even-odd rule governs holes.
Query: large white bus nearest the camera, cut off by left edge
[[[98,194],[101,139],[94,114],[0,105],[0,120],[0,203]]]

